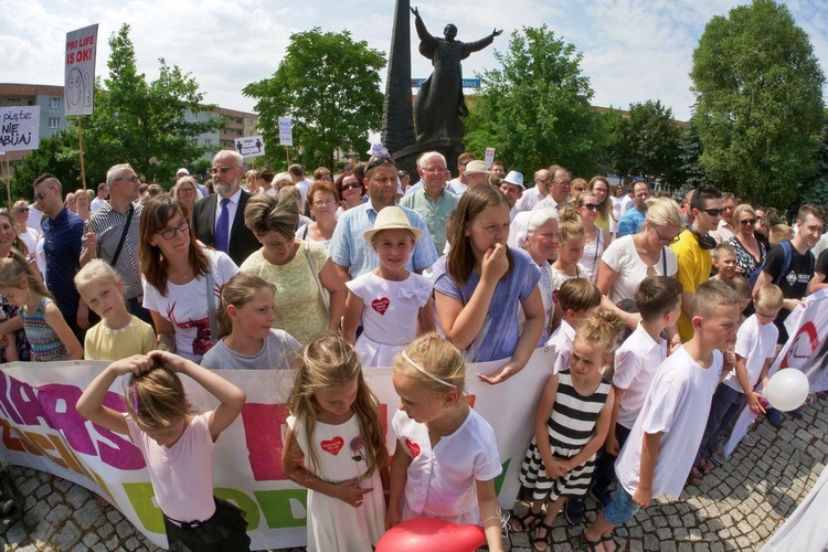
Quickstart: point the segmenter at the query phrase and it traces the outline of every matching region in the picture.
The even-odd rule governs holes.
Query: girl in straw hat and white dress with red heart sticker
[[[388,206],[362,235],[379,255],[380,266],[346,284],[350,294],[342,333],[353,343],[362,323],[362,335],[355,339],[362,367],[390,367],[418,332],[434,331],[432,282],[405,269],[423,232],[400,208]]]

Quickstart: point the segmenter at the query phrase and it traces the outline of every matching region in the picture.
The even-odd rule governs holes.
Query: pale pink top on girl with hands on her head
[[[147,460],[149,479],[161,511],[177,521],[206,521],[213,501],[213,443],[211,412],[194,416],[174,445],[161,446],[125,414],[129,437]]]

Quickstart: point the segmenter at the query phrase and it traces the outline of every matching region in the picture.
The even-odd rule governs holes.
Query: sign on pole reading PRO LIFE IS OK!
[[[92,115],[98,25],[66,33],[63,98],[66,115]]]

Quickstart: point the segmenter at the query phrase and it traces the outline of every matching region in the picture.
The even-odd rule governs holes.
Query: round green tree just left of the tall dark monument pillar
[[[333,152],[361,155],[368,134],[379,130],[383,95],[380,70],[385,55],[355,42],[351,33],[319,28],[290,35],[285,57],[272,77],[244,87],[255,98],[258,129],[267,157],[284,162],[277,149],[278,118],[293,119],[294,157],[309,168],[333,169]]]

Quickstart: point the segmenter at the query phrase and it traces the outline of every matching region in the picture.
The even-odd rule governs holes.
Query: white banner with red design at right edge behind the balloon
[[[785,329],[789,339],[768,374],[790,368],[802,370],[808,376],[811,393],[828,390],[828,289],[807,297],[804,307],[795,308],[785,319]],[[751,408],[742,410],[724,446],[725,455],[736,448],[756,417]]]

